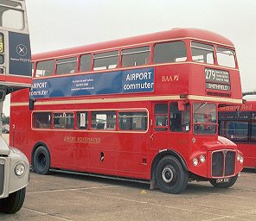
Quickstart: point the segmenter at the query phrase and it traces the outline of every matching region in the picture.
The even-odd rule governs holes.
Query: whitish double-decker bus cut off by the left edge
[[[31,52],[24,0],[0,0],[0,116],[6,94],[31,85]],[[0,121],[0,135],[2,135]],[[29,183],[29,161],[0,136],[0,212],[18,212]]]

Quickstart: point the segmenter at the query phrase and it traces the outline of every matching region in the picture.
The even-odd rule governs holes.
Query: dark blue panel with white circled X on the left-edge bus
[[[31,51],[29,35],[9,33],[9,74],[31,77]]]

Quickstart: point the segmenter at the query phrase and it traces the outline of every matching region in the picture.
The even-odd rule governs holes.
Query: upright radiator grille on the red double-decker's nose
[[[234,175],[235,151],[221,150],[212,155],[212,177]]]

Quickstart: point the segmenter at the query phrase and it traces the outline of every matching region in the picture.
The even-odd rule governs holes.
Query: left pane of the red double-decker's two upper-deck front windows
[[[191,42],[192,60],[207,64],[214,64],[214,47],[212,45]]]

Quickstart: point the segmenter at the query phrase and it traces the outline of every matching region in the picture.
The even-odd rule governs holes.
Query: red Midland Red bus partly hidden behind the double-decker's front
[[[256,96],[244,98],[246,104],[219,109],[219,132],[237,144],[244,155],[244,167],[256,168]]]

